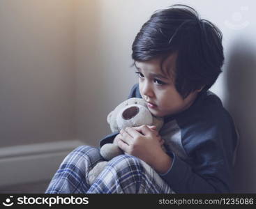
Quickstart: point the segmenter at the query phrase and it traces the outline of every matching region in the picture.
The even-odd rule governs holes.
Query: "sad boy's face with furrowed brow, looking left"
[[[154,116],[170,116],[188,109],[200,91],[190,93],[185,99],[179,95],[172,78],[175,61],[176,54],[172,54],[165,59],[162,65],[165,73],[160,70],[160,58],[135,62],[136,73],[139,75],[140,94]],[[170,73],[167,73],[167,71]]]

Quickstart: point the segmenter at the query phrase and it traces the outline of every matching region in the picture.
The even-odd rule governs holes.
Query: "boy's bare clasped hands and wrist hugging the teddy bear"
[[[125,153],[139,157],[156,171],[165,173],[170,168],[171,159],[161,148],[163,141],[155,127],[126,127],[115,139]]]

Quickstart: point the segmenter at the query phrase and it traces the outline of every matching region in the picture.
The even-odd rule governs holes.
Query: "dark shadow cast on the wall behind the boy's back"
[[[227,103],[239,130],[234,167],[234,192],[256,192],[256,49],[252,42],[234,40],[227,60]]]

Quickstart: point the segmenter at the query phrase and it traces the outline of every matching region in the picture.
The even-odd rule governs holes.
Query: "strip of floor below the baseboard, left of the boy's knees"
[[[36,183],[27,183],[22,185],[11,185],[6,187],[0,187],[0,194],[10,193],[28,193],[28,194],[43,194],[47,189],[50,180],[40,181]]]

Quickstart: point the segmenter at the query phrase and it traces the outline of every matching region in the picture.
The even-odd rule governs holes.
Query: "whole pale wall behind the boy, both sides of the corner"
[[[256,192],[253,0],[0,0],[0,146],[73,138],[98,145],[110,133],[107,114],[136,82],[133,39],[153,11],[173,3],[223,31],[225,65],[211,90],[241,134],[236,192]]]

